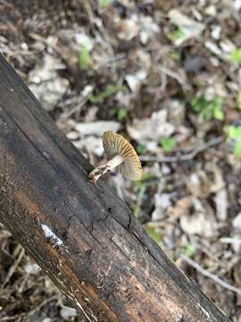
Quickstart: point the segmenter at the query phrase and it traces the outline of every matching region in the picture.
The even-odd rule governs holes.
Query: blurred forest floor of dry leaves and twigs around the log
[[[30,3],[30,2],[29,2]],[[241,1],[0,0],[0,52],[93,165],[137,149],[117,191],[176,264],[241,322]],[[0,226],[0,320],[85,321]]]

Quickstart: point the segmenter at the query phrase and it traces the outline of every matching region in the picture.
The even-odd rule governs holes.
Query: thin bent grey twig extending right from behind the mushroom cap
[[[160,162],[160,163],[173,163],[173,162],[183,162],[183,161],[189,161],[195,158],[199,153],[203,152],[207,148],[214,147],[218,144],[220,144],[223,141],[222,137],[212,139],[202,145],[200,147],[195,148],[190,153],[187,153],[183,156],[177,156],[177,157],[152,157],[152,156],[141,156],[141,161],[147,161],[147,162]]]

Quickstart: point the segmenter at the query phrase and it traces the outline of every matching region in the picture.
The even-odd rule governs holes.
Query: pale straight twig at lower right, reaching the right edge
[[[188,258],[186,255],[181,254],[180,258],[187,262],[188,265],[191,267],[194,267],[198,272],[203,274],[206,277],[211,278],[215,283],[220,284],[220,286],[226,288],[227,290],[231,292],[236,292],[237,295],[241,296],[241,290],[237,289],[237,287],[229,285],[228,283],[224,282],[220,279],[217,275],[214,275],[208,271],[206,271],[203,267],[201,267],[199,264],[197,264],[193,259]]]

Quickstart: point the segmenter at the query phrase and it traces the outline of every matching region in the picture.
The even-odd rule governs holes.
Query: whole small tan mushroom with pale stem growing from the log
[[[115,167],[125,178],[129,180],[139,180],[142,175],[142,168],[137,152],[120,134],[113,131],[105,131],[103,134],[103,147],[110,160],[105,165],[97,166],[88,179],[96,182],[99,177],[111,171]]]

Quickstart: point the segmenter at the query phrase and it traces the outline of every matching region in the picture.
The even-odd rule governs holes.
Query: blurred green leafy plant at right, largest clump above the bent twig
[[[204,95],[194,97],[190,100],[191,108],[200,113],[204,120],[211,120],[212,118],[222,121],[224,114],[222,111],[223,98],[216,96],[213,99],[207,99]]]

